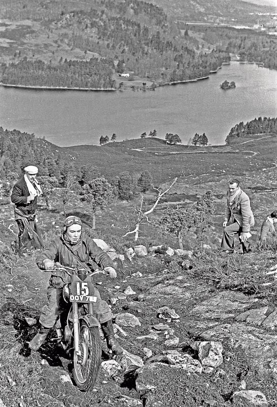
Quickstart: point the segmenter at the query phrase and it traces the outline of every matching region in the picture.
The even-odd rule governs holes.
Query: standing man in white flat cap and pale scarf
[[[11,200],[15,204],[14,214],[19,229],[19,252],[26,256],[43,247],[36,219],[38,197],[42,190],[36,179],[38,167],[28,165],[24,171],[24,176],[13,187]]]

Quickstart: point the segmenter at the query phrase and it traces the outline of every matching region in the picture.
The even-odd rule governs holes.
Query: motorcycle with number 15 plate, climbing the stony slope
[[[70,282],[63,288],[67,312],[60,318],[61,328],[56,331],[64,350],[73,359],[73,377],[77,387],[87,391],[97,380],[102,353],[100,325],[93,315],[97,297],[92,277],[105,272],[60,265],[56,265],[55,270],[65,271],[70,276]]]

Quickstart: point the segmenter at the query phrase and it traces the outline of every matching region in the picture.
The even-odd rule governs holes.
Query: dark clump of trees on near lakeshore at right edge
[[[231,128],[227,138],[226,143],[231,143],[236,138],[241,137],[251,137],[253,135],[273,133],[277,134],[277,118],[258,118],[251,122],[243,123],[240,122]]]

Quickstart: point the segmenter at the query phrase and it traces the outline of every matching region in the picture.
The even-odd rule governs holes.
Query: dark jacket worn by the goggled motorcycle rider
[[[89,260],[93,260],[99,267],[113,267],[113,261],[97,244],[87,235],[82,234],[75,245],[65,241],[60,235],[51,241],[47,249],[36,258],[38,267],[43,270],[43,260],[58,261],[62,266],[87,267]],[[52,271],[50,285],[61,288],[70,282],[70,276],[64,271]]]

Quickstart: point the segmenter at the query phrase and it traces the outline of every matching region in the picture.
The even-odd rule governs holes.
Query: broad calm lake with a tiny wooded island
[[[222,90],[224,80],[236,89]],[[277,115],[277,71],[233,62],[208,79],[162,86],[155,91],[43,91],[0,86],[0,125],[45,137],[57,146],[97,144],[177,133],[187,144],[195,133],[224,144],[231,127]]]

